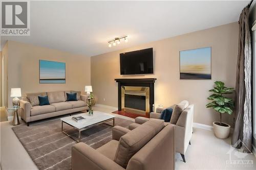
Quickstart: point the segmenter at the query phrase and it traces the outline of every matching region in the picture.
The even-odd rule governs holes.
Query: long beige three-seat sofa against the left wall
[[[80,95],[80,100],[67,102],[66,92],[71,91],[51,91],[40,93],[27,93],[27,96],[45,96],[48,95],[50,105],[32,106],[27,97],[20,100],[19,114],[29,126],[30,122],[44,118],[54,117],[63,114],[71,114],[74,112],[88,110],[87,95]],[[80,92],[79,92],[80,93]]]

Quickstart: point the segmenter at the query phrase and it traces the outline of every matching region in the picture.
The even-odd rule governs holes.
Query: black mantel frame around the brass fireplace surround
[[[155,86],[154,83],[156,78],[148,79],[115,79],[118,83],[118,110],[122,109],[121,103],[121,87],[122,86],[141,86],[141,87],[150,87],[150,112],[153,112],[154,100],[155,100]]]

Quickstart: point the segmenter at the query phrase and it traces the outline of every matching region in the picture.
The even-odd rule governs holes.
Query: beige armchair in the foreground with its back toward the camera
[[[175,169],[174,126],[153,119],[134,130],[112,129],[110,142],[94,150],[86,143],[72,147],[72,170]]]

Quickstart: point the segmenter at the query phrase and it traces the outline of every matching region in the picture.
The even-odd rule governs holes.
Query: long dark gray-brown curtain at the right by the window
[[[239,18],[239,46],[236,75],[236,109],[232,146],[251,152],[251,40],[248,23],[249,7]]]

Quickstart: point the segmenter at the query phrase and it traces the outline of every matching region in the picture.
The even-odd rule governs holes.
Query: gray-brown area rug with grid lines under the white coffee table
[[[115,118],[115,125],[127,127],[132,120]],[[81,142],[97,149],[112,139],[113,120],[81,132]],[[12,128],[38,169],[71,169],[71,148],[77,142],[61,132],[61,120],[26,124]],[[75,138],[78,131],[67,124],[63,130]]]

